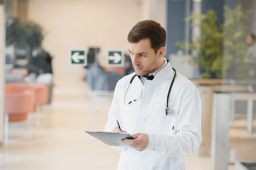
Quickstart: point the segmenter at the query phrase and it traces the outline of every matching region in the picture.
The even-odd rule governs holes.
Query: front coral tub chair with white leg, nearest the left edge
[[[4,142],[19,139],[9,139],[9,122],[24,122],[27,120],[28,112],[33,111],[34,94],[31,90],[15,92],[8,89],[5,92],[5,108],[4,108]],[[24,137],[29,137],[25,135]]]

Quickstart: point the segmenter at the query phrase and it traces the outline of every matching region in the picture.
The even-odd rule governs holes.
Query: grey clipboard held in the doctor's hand
[[[115,133],[115,132],[97,132],[97,131],[85,131],[89,135],[99,139],[101,142],[109,146],[127,146],[121,143],[124,139],[135,139],[129,133]]]

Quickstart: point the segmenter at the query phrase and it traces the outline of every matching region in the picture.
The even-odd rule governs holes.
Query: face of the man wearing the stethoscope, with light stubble
[[[162,58],[165,49],[162,47],[155,54],[149,39],[142,39],[137,43],[129,43],[128,50],[135,73],[139,76],[153,73],[162,66],[158,61]]]

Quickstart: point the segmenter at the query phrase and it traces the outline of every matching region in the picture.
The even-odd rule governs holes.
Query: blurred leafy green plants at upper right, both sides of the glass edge
[[[223,78],[234,68],[236,59],[246,54],[245,24],[251,10],[242,11],[240,5],[235,9],[224,6],[224,24],[218,24],[213,10],[206,13],[192,13],[186,20],[192,21],[192,27],[200,28],[200,37],[189,44],[189,50],[195,51],[194,63],[200,66],[201,78]],[[177,46],[184,49],[185,42],[178,41]]]

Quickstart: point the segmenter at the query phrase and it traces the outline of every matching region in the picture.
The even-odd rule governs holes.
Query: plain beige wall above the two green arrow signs
[[[148,0],[29,0],[28,20],[45,30],[43,47],[54,57],[56,76],[82,75],[84,69],[70,66],[74,48],[100,47],[127,52],[126,37],[134,24],[146,18],[143,5]]]

